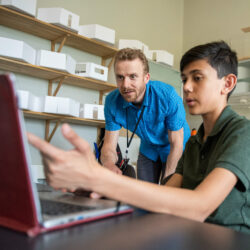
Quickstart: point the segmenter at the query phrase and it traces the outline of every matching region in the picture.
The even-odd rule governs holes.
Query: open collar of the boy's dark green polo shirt
[[[232,110],[232,108],[229,105],[226,106],[222,111],[221,115],[219,116],[218,120],[216,121],[212,129],[212,132],[208,137],[217,135],[234,116],[235,112]],[[200,144],[203,143],[203,136],[204,136],[204,125],[202,123],[196,135],[196,140]]]

